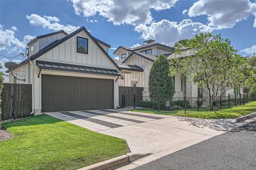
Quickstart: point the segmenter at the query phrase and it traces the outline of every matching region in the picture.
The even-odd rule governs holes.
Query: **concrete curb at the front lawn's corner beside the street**
[[[150,155],[149,153],[132,153],[130,152],[129,154],[118,156],[112,159],[105,160],[103,162],[89,165],[77,170],[112,170],[116,169],[125,165],[130,164],[134,160],[140,159],[142,157]]]

